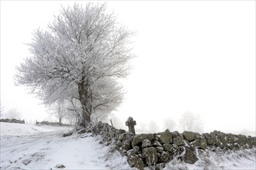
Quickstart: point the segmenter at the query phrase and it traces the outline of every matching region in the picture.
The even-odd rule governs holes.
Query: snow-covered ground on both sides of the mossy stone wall
[[[73,134],[67,127],[31,124],[1,125],[0,169],[133,169],[118,151],[99,144],[101,137]],[[243,151],[209,151],[194,165],[174,159],[164,169],[256,169],[256,148]]]

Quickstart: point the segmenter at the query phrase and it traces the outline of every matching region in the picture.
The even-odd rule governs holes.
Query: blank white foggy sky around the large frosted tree
[[[25,87],[15,87],[15,66],[29,56],[24,44],[37,28],[74,2],[1,1],[1,102],[26,120],[48,115]],[[85,2],[78,2],[85,3]],[[200,114],[205,130],[255,131],[255,2],[108,2],[133,38],[133,72],[126,100],[117,111],[125,120],[178,120]]]

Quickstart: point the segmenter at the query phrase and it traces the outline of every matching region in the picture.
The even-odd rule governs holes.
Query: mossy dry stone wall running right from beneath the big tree
[[[194,164],[199,159],[197,154],[207,149],[220,148],[227,151],[256,147],[256,138],[220,131],[199,134],[166,130],[156,134],[134,135],[99,122],[78,131],[79,134],[86,132],[102,135],[102,143],[114,145],[121,155],[127,157],[129,165],[138,169],[161,169],[173,158]]]

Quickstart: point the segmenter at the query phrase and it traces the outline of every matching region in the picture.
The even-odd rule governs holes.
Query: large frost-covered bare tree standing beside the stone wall
[[[106,13],[106,4],[62,8],[47,30],[33,33],[32,55],[17,67],[16,83],[31,87],[45,104],[79,101],[86,125],[92,114],[107,114],[120,104],[118,79],[129,73],[131,36]]]

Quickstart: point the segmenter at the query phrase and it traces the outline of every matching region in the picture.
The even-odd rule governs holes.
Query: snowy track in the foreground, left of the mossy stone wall
[[[67,129],[66,129],[67,130]],[[129,165],[117,151],[99,144],[100,137],[72,135],[50,131],[29,136],[1,138],[1,169],[112,169]]]

